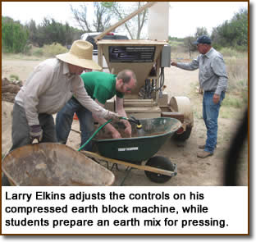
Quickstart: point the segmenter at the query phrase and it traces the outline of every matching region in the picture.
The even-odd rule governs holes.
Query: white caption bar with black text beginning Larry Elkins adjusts
[[[2,234],[248,234],[248,187],[2,187]]]

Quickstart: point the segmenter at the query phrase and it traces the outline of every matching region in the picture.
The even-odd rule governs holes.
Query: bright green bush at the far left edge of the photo
[[[2,48],[5,52],[23,53],[28,38],[28,31],[19,21],[2,17]]]

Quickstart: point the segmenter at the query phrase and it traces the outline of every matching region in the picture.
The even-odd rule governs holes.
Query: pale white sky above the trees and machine
[[[40,24],[43,17],[53,17],[62,24],[67,21],[69,25],[78,28],[70,5],[79,8],[80,3],[82,2],[2,2],[2,16],[10,16],[22,24],[31,19]],[[197,27],[206,27],[208,34],[211,34],[214,27],[231,20],[241,7],[247,8],[248,2],[170,2],[170,5],[169,35],[184,38],[194,35]],[[90,8],[90,12],[93,16],[93,8]]]

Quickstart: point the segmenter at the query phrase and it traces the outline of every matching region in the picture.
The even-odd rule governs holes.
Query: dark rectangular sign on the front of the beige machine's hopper
[[[109,46],[109,62],[153,62],[155,46]]]

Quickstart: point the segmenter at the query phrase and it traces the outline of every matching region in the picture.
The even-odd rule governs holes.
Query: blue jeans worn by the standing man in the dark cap
[[[222,92],[219,103],[213,103],[214,92],[203,93],[203,121],[207,129],[207,139],[204,150],[213,153],[217,144],[217,118],[225,93]]]

